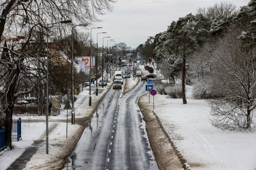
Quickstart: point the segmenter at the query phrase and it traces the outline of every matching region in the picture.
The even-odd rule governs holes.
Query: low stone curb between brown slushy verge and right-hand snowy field
[[[168,136],[168,139],[169,139],[169,141],[170,141],[170,143],[171,143],[171,146],[172,146],[172,148],[175,150],[176,156],[178,157],[178,159],[179,159],[180,162],[182,163],[182,167],[184,168],[184,170],[191,170],[191,167],[190,167],[190,165],[188,164],[187,159],[184,158],[184,156],[182,155],[182,153],[180,152],[180,150],[178,150],[178,148],[177,148],[176,144],[174,143],[174,141],[173,141],[171,135],[169,135],[169,134],[166,132],[165,128],[164,128],[163,125],[162,125],[162,121],[159,119],[158,115],[156,114],[156,112],[155,112],[154,110],[153,110],[153,113],[154,113],[154,115],[156,116],[156,119],[158,120],[160,126],[161,126],[162,129],[164,130],[164,133]]]

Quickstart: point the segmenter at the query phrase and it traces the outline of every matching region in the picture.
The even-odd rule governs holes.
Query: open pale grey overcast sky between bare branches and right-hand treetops
[[[107,40],[114,39],[114,43],[124,42],[132,48],[145,43],[149,36],[166,31],[168,25],[178,18],[187,14],[195,14],[199,7],[213,6],[223,0],[118,0],[114,4],[113,12],[108,12],[100,16],[99,23],[93,27],[103,27],[92,29],[93,41],[96,43],[98,34],[98,45],[102,47],[103,37],[104,46]],[[247,5],[250,0],[231,0],[238,8]],[[229,2],[229,1],[226,1]],[[90,28],[89,28],[90,31]],[[108,47],[110,41],[108,41]]]

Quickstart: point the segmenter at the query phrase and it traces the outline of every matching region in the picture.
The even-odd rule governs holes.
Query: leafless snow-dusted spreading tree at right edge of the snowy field
[[[256,48],[244,48],[237,38],[244,28],[231,28],[212,54],[212,78],[222,98],[209,100],[214,127],[230,130],[255,125]]]

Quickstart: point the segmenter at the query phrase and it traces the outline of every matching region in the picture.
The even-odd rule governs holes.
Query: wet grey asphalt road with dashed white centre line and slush
[[[125,83],[124,83],[125,84]],[[137,105],[145,87],[122,96],[112,88],[100,102],[65,170],[156,170],[142,113]]]

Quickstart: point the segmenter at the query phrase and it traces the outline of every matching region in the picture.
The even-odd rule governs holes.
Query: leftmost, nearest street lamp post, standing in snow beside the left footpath
[[[60,21],[56,23],[48,23],[49,25],[54,25],[58,23],[65,23],[66,25],[70,25],[72,23],[71,20]],[[47,36],[47,59],[46,59],[46,154],[48,154],[48,115],[49,115],[49,41]]]

